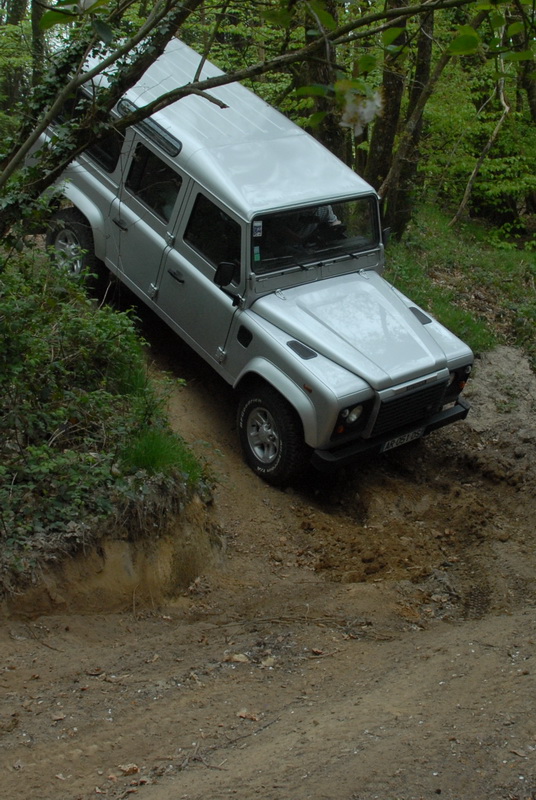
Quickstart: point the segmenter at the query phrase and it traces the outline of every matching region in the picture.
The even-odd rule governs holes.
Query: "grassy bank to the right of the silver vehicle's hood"
[[[476,222],[455,229],[424,207],[387,250],[386,277],[466,341],[475,353],[499,343],[525,350],[536,367],[536,254],[490,244]]]

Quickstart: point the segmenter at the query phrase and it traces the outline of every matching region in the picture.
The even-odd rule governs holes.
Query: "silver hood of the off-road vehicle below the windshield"
[[[278,290],[251,310],[378,390],[447,366],[430,325],[372,270]]]

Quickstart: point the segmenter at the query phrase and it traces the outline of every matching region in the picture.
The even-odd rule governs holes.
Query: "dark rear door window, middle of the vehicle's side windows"
[[[138,144],[126,186],[164,222],[169,222],[182,180],[145,145]]]

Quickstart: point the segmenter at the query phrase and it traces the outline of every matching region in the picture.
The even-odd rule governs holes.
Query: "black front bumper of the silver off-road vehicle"
[[[413,423],[406,428],[399,428],[395,431],[384,433],[382,436],[376,436],[374,439],[358,439],[355,442],[349,442],[330,450],[314,450],[311,456],[311,463],[320,470],[327,470],[332,466],[342,467],[345,464],[351,464],[362,453],[380,453],[385,448],[385,445],[395,439],[404,440],[406,438],[406,441],[411,441],[411,434],[413,433],[420,434],[416,437],[420,438],[421,436],[427,436],[432,431],[443,428],[445,425],[450,425],[452,422],[465,419],[470,408],[469,403],[459,397],[453,406],[438,411],[437,414],[421,422],[420,425]],[[403,443],[403,441],[400,442],[400,444]]]

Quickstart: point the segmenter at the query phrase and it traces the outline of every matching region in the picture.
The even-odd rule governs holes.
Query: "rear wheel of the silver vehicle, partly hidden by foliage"
[[[76,208],[62,208],[54,214],[46,244],[55,251],[57,265],[72,275],[94,272],[99,264],[91,226]]]

